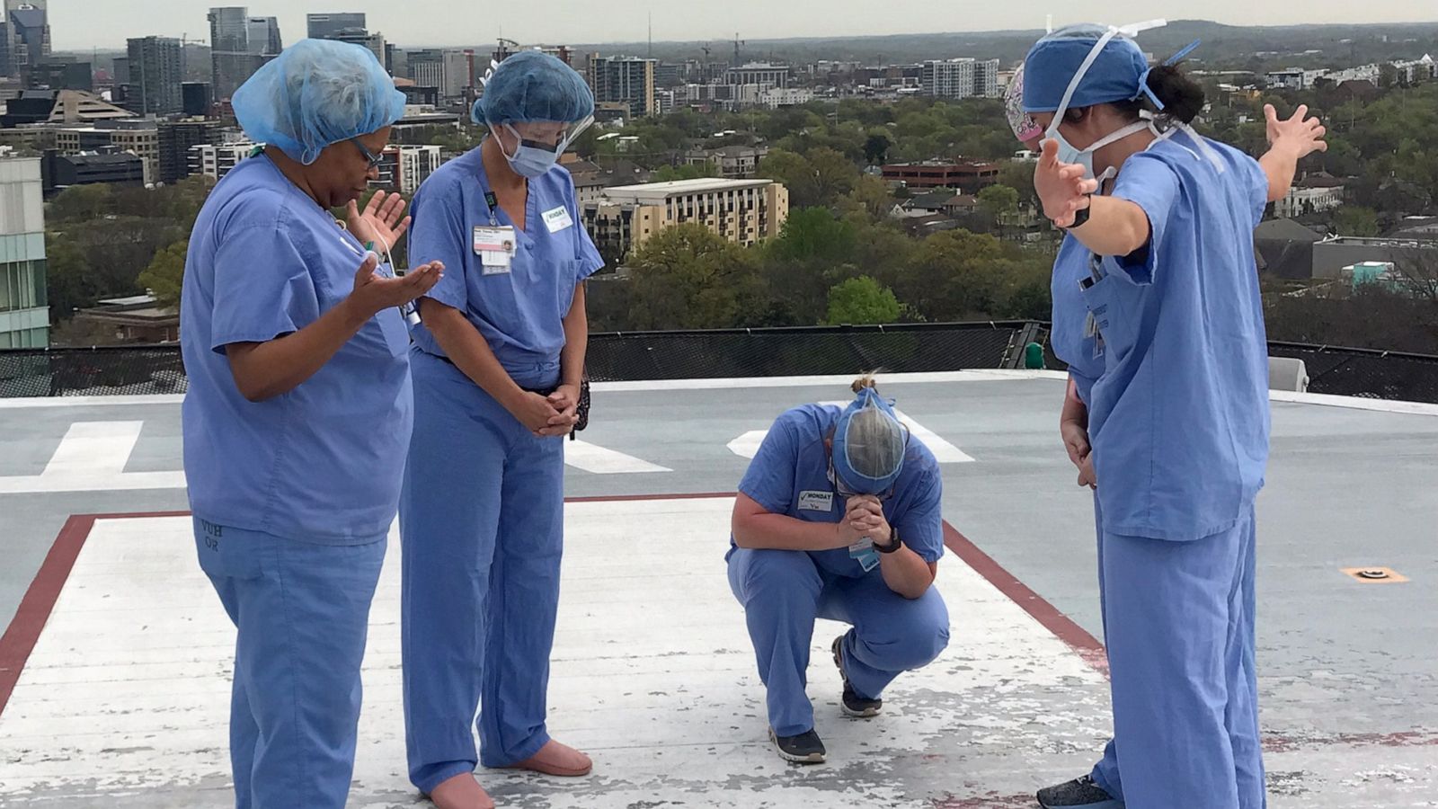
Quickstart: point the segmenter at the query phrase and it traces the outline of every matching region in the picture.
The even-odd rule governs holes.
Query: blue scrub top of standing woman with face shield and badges
[[[552,384],[575,285],[598,272],[604,259],[584,230],[569,171],[555,166],[529,180],[525,229],[516,233],[509,272],[486,275],[475,252],[475,227],[490,226],[489,190],[482,148],[439,167],[410,210],[410,266],[444,262],[444,278],[429,297],[464,312],[518,384]],[[545,214],[557,210],[568,213],[569,225],[551,225]],[[513,226],[499,206],[493,217],[500,226]],[[414,343],[444,356],[423,324],[414,330]]]

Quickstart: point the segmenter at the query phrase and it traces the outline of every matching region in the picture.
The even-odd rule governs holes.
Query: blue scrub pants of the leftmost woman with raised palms
[[[344,809],[360,664],[385,540],[329,546],[194,521],[200,567],[239,629],[236,809]]]

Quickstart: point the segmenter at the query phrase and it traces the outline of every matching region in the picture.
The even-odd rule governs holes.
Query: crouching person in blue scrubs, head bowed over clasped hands
[[[939,465],[873,377],[853,390],[847,407],[781,415],[733,507],[729,587],[766,688],[769,740],[804,764],[827,754],[804,691],[817,618],[853,626],[830,646],[851,717],[877,715],[884,687],[949,643],[932,586],[943,556]]]

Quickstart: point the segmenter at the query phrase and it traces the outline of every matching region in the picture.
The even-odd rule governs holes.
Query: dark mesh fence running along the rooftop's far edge
[[[627,381],[1014,369],[1047,337],[1045,324],[1027,321],[595,334],[588,371]],[[1290,343],[1270,354],[1301,358],[1314,393],[1438,403],[1438,357]],[[0,350],[0,397],[184,390],[178,345]]]

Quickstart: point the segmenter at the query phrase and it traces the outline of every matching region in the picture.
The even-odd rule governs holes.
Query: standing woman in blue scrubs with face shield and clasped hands
[[[577,417],[603,266],[558,157],[594,99],[538,50],[496,66],[489,137],[414,199],[411,263],[449,274],[420,302],[404,475],[404,717],[410,780],[440,809],[493,806],[476,764],[582,776],[545,727],[564,546],[564,440]],[[479,707],[479,751],[473,740]]]

